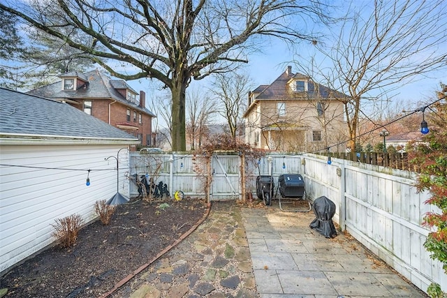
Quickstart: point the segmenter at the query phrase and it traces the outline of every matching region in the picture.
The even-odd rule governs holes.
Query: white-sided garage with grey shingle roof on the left
[[[2,275],[52,244],[57,218],[95,218],[95,202],[112,198],[117,180],[129,196],[129,150],[122,149],[140,142],[67,103],[9,89],[0,88],[0,113]]]

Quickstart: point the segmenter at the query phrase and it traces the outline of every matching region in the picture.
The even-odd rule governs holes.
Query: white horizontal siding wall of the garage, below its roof
[[[119,149],[116,145],[0,146],[3,164],[83,169],[0,166],[0,272],[52,243],[55,219],[80,214],[87,223],[95,217],[94,203],[108,200],[117,191],[115,158],[104,158],[116,156]],[[87,169],[92,169],[88,187]],[[119,191],[124,195],[129,195],[127,170],[120,169],[119,174]]]

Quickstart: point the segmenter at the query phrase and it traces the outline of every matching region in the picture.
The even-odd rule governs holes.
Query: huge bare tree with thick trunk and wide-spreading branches
[[[192,79],[247,62],[257,36],[316,40],[302,24],[325,20],[318,0],[4,0],[0,9],[85,52],[124,80],[154,78],[170,90],[173,150],[186,149],[185,98]],[[69,32],[68,34],[66,32]],[[82,31],[85,40],[73,38]],[[72,33],[70,33],[72,32]],[[101,45],[101,46],[100,46]],[[103,59],[118,62],[119,67]]]

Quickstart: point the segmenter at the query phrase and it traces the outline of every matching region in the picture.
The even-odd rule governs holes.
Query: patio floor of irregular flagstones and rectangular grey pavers
[[[184,241],[112,297],[427,297],[357,241],[326,239],[311,212],[212,202]]]

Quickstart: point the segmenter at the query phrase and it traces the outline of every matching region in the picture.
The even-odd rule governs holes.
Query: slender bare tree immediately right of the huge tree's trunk
[[[207,126],[210,125],[211,116],[216,109],[207,94],[200,89],[190,89],[186,94],[186,112],[186,134],[191,150],[200,149],[203,137],[207,135]]]

